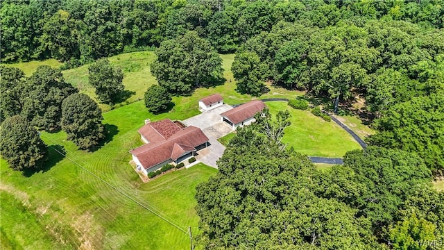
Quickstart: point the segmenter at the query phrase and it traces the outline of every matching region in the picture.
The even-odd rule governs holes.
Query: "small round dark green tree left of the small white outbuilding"
[[[145,92],[145,106],[151,113],[167,110],[171,100],[171,94],[159,85],[151,85]]]

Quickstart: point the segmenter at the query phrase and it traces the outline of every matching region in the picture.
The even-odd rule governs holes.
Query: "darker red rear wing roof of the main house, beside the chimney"
[[[151,122],[139,129],[139,133],[150,143],[167,140],[178,131],[180,131],[180,127],[170,119]]]

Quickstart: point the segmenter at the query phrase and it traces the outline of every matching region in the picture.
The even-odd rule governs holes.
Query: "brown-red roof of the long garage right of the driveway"
[[[222,113],[221,116],[229,119],[233,124],[239,124],[254,117],[256,113],[261,112],[264,108],[266,106],[263,101],[250,101]]]

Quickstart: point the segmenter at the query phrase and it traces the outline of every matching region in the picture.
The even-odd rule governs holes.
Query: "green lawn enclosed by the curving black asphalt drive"
[[[282,142],[308,156],[342,157],[345,152],[361,149],[359,144],[334,122],[325,122],[307,110],[296,110],[285,101],[266,103],[271,114],[289,110],[291,126],[284,132]]]

